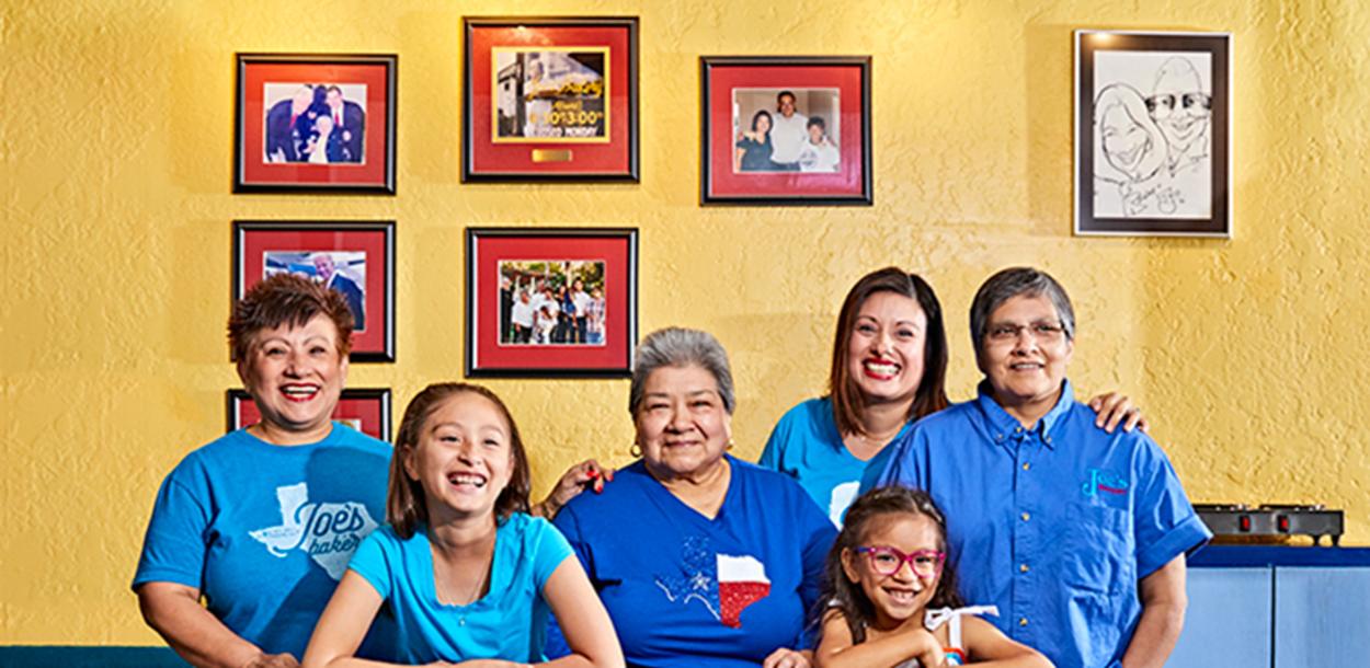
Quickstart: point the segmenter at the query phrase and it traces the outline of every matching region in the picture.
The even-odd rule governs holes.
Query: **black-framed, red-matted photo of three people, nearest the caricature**
[[[703,204],[873,203],[869,56],[704,56]]]

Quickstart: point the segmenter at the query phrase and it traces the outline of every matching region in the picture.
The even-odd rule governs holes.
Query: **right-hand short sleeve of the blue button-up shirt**
[[[1133,474],[1137,480],[1133,538],[1138,579],[1212,538],[1189,504],[1170,459],[1159,445],[1143,438]]]

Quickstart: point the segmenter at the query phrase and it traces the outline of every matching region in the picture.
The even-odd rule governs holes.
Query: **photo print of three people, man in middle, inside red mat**
[[[841,129],[836,88],[733,89],[733,172],[836,172]]]

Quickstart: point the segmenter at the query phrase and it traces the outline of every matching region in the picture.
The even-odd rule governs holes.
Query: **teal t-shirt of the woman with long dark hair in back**
[[[891,444],[903,438],[908,427],[906,423]],[[893,448],[885,446],[867,461],[856,459],[837,433],[833,401],[823,397],[790,408],[775,423],[758,464],[799,480],[827,519],[840,527],[847,506],[863,487],[875,482],[892,452]]]

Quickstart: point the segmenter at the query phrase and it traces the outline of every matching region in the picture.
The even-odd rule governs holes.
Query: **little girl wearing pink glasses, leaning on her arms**
[[[993,609],[963,606],[947,522],[923,491],[881,487],[856,498],[825,575],[821,668],[1051,668],[974,616]]]

